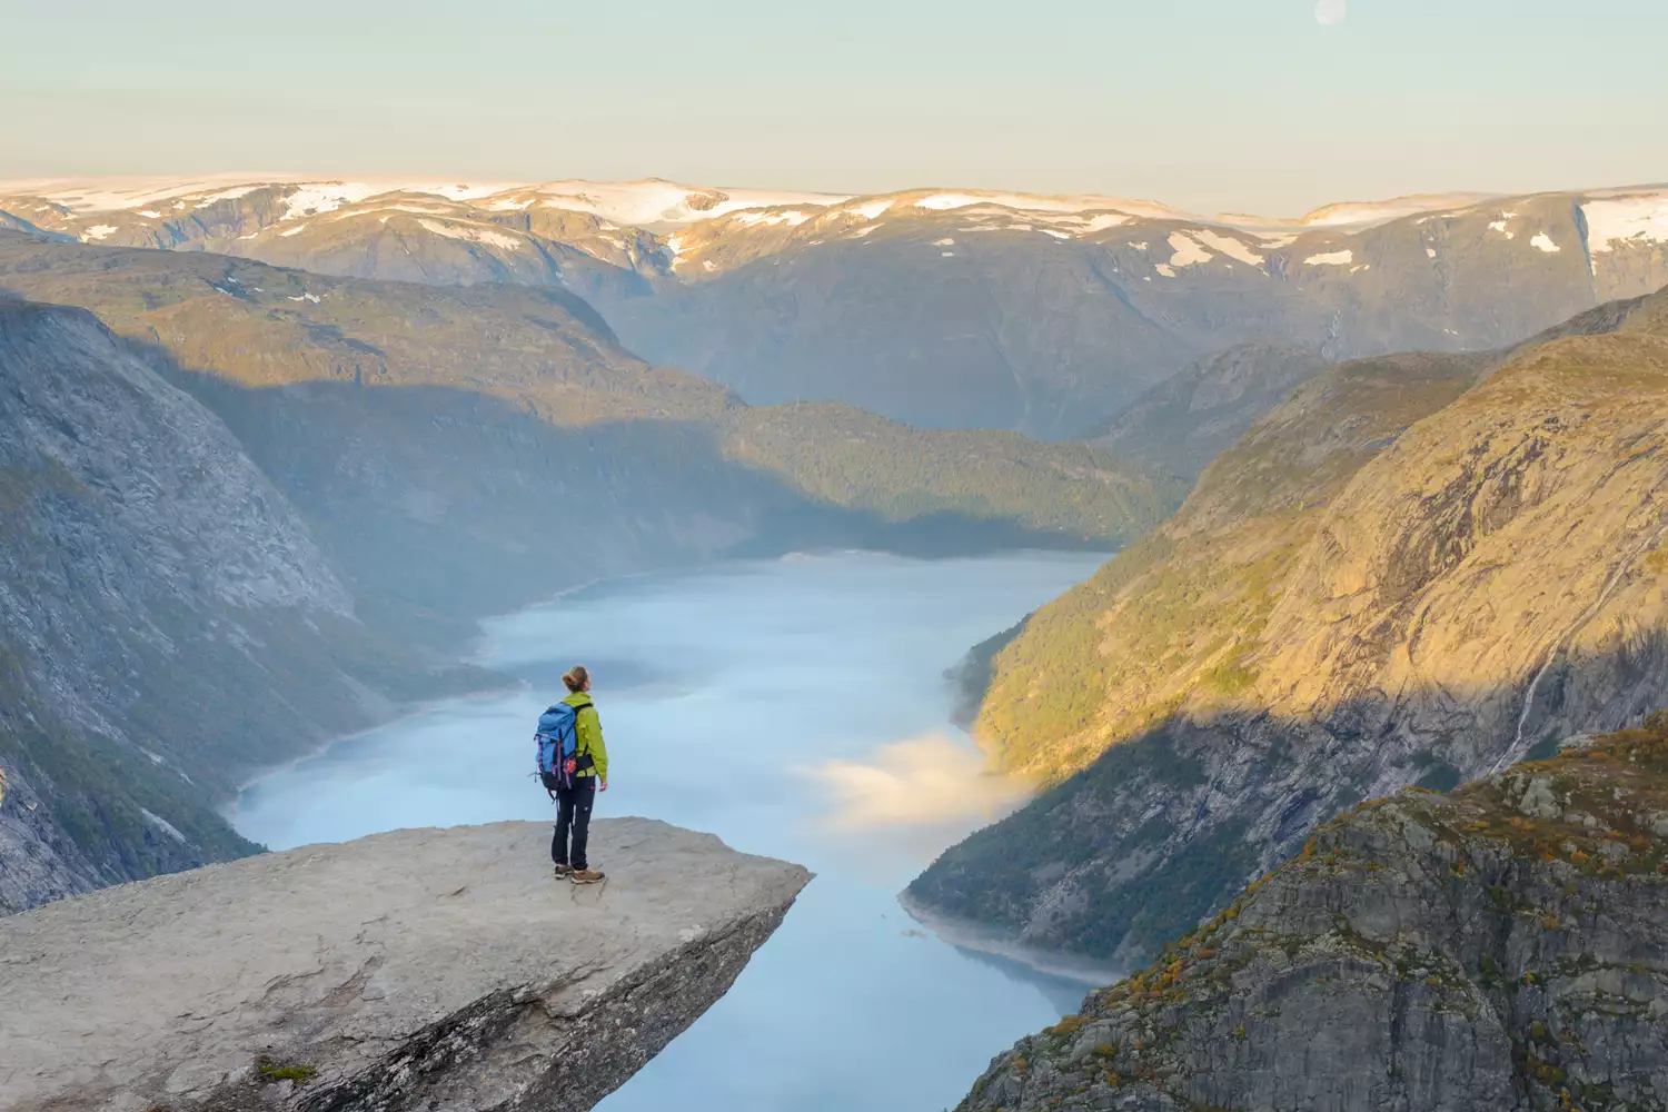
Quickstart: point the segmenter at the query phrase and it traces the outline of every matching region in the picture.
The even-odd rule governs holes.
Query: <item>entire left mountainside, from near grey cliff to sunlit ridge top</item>
[[[103,322],[0,318],[0,910],[252,850],[214,809],[484,682],[425,664],[480,615],[736,552],[1114,545],[1179,500],[1081,445],[742,407],[560,290],[30,237],[0,290]]]

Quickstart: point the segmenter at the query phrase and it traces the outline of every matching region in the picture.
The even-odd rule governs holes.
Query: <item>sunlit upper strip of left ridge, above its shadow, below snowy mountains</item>
[[[812,507],[881,522],[946,515],[1004,522],[1024,543],[1111,547],[1183,495],[1173,478],[1081,445],[924,432],[842,405],[742,407],[716,383],[622,350],[589,305],[559,290],[360,282],[25,237],[0,238],[0,288],[90,308],[175,367],[240,387],[430,387],[500,398],[560,428],[707,428],[717,460],[757,468]],[[629,438],[647,457],[657,435],[644,423]]]

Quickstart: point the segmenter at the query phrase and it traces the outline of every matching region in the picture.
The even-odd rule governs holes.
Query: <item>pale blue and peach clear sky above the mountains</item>
[[[1336,0],[1326,0],[1334,3]],[[976,185],[1291,215],[1668,180],[1663,0],[0,0],[0,178]]]

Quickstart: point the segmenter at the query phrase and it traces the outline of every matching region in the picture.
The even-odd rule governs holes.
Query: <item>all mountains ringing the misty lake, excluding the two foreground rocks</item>
[[[8,907],[247,852],[215,812],[240,779],[495,682],[444,664],[477,617],[717,555],[1126,547],[961,670],[996,765],[1049,787],[909,894],[1118,960],[1354,800],[1663,694],[1665,188],[1273,222],[239,177],[0,210],[30,537],[0,595],[30,710],[0,745],[35,807],[0,832],[40,862]],[[165,415],[110,417],[135,388]],[[224,460],[170,475],[202,445]],[[115,447],[170,463],[117,482]],[[552,552],[564,513],[589,525]],[[219,587],[210,520],[287,587]],[[87,650],[105,627],[135,647]],[[265,684],[287,710],[229,707],[244,742],[217,749],[140,710],[182,667],[198,704]]]

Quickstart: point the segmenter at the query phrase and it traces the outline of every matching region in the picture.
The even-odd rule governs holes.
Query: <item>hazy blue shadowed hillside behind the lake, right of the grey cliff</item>
[[[922,512],[924,500],[907,497],[837,505],[727,458],[722,430],[707,423],[557,425],[509,398],[439,385],[252,388],[138,347],[214,410],[302,510],[362,615],[437,647],[465,637],[477,617],[564,587],[697,560],[806,548],[952,557],[1113,547],[1001,510]]]

